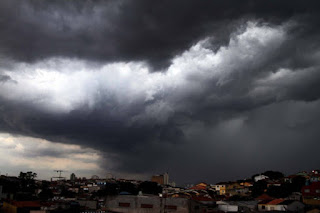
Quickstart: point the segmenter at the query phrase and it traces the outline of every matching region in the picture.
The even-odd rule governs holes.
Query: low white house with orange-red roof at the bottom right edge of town
[[[264,200],[258,203],[259,211],[302,211],[304,209],[303,203],[295,200]]]

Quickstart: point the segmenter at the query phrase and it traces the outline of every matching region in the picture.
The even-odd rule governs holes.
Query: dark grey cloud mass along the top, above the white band
[[[208,35],[225,44],[239,19],[279,23],[317,11],[317,1],[2,1],[1,52],[27,62],[64,56],[158,68]]]

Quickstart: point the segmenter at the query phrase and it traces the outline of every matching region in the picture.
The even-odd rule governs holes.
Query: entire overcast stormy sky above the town
[[[318,2],[1,0],[1,174],[316,169]]]

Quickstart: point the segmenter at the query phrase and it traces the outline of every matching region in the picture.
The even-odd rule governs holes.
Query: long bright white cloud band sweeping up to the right
[[[4,72],[18,83],[1,84],[0,95],[45,111],[66,113],[78,106],[92,109],[104,100],[106,110],[117,116],[126,114],[132,105],[154,101],[132,119],[164,123],[175,111],[186,110],[181,99],[207,92],[209,81],[223,86],[234,74],[254,69],[284,39],[284,26],[249,22],[228,46],[214,52],[209,38],[199,41],[176,56],[166,72],[152,73],[142,62],[93,66],[77,59],[51,58],[35,64],[18,63]]]

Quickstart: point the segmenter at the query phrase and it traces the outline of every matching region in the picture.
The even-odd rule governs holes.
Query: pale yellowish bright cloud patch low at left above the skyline
[[[101,172],[98,151],[37,138],[0,134],[0,156],[1,168],[5,167],[10,175],[17,175],[18,170],[40,175],[54,174],[53,170],[60,169],[83,176]]]

